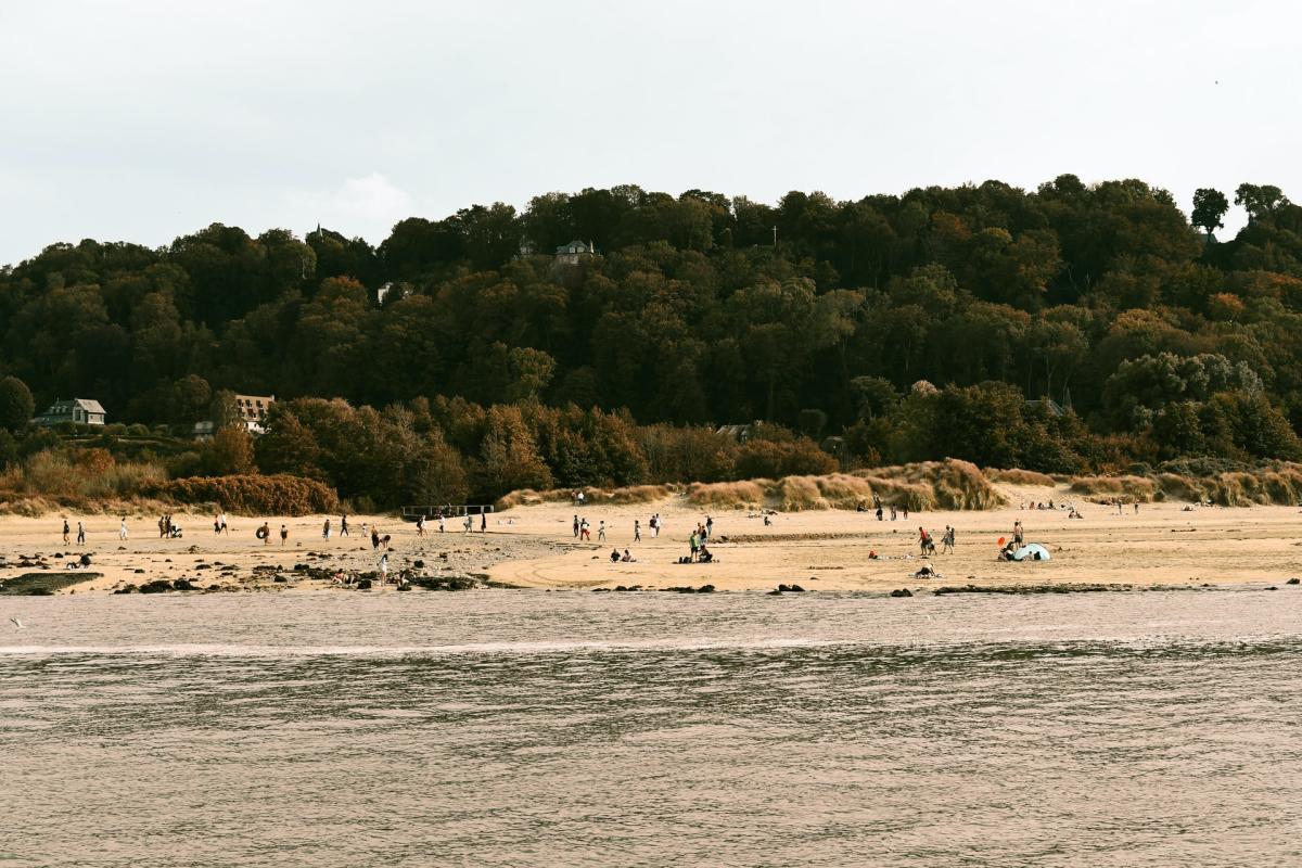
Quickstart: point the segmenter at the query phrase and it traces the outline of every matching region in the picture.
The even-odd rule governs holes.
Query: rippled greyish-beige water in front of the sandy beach
[[[0,865],[1302,864],[1298,588],[0,625]]]

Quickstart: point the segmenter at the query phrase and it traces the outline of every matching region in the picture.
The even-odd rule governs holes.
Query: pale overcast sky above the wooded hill
[[[0,263],[615,183],[1298,199],[1299,90],[1286,1],[4,0]]]

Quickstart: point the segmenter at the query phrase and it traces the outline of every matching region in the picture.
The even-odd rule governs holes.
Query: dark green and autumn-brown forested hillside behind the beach
[[[1215,236],[1232,207],[1215,190],[1191,224],[1142,181],[1061,176],[776,206],[547,194],[411,217],[378,247],[216,224],[160,250],[56,243],[0,272],[0,375],[124,423],[208,418],[219,389],[344,398],[435,437],[486,493],[508,484],[482,476],[513,448],[490,442],[503,426],[556,484],[643,481],[648,432],[753,420],[768,442],[841,436],[842,466],[1298,458],[1302,207],[1232,198],[1234,238]],[[575,239],[598,255],[552,255]],[[1072,411],[1025,402],[1042,397]],[[341,405],[283,402],[259,465],[341,484],[337,457],[311,458],[324,406]],[[592,457],[603,426],[626,428],[622,465]]]

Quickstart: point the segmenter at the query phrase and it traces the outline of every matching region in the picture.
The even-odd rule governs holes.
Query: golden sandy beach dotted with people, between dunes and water
[[[86,582],[61,592],[109,592],[154,579],[187,578],[204,590],[331,588],[328,580],[310,579],[326,573],[367,573],[379,566],[368,528],[378,523],[392,536],[391,570],[411,567],[431,576],[470,575],[513,587],[533,588],[642,588],[700,587],[719,591],[769,591],[797,583],[807,591],[878,591],[927,588],[940,584],[1005,586],[1105,583],[1131,586],[1190,586],[1225,583],[1284,583],[1302,575],[1299,513],[1295,508],[1219,508],[1186,504],[1143,504],[1139,511],[1077,500],[1082,519],[1066,510],[1040,510],[1034,505],[1069,498],[1065,491],[1001,485],[1010,506],[988,511],[901,514],[897,521],[876,521],[872,513],[814,510],[779,513],[766,526],[754,510],[720,510],[713,518],[712,563],[678,563],[687,553],[687,537],[707,513],[681,496],[635,505],[569,504],[521,506],[490,515],[488,528],[466,535],[460,521],[439,534],[431,522],[418,536],[415,524],[392,517],[350,517],[352,536],[340,537],[339,521],[329,540],[322,537],[324,517],[266,519],[272,541],[255,539],[262,518],[232,517],[229,534],[215,536],[211,517],[178,515],[185,536],[159,539],[156,518],[130,517],[130,539],[117,536],[112,517],[69,515],[86,523],[86,545],[64,545],[59,515],[0,518],[0,582],[34,569],[59,571],[89,553]],[[581,543],[572,532],[578,513],[592,528],[592,540]],[[659,537],[647,527],[659,513]],[[642,524],[642,541],[633,540],[633,523]],[[1052,553],[1047,562],[1003,562],[997,540],[1012,535],[1021,521],[1027,543],[1040,543]],[[598,540],[604,522],[607,539]],[[289,530],[281,545],[279,528]],[[363,526],[367,528],[363,531]],[[956,528],[952,554],[923,561],[918,528],[939,540],[944,528]],[[634,562],[612,563],[612,549],[629,549]],[[878,560],[870,560],[876,552]],[[40,567],[40,562],[47,566]],[[941,579],[915,579],[928,562]],[[23,566],[26,563],[26,566]],[[299,567],[296,571],[296,566]],[[276,580],[280,576],[280,580]],[[72,576],[69,576],[72,578]]]

